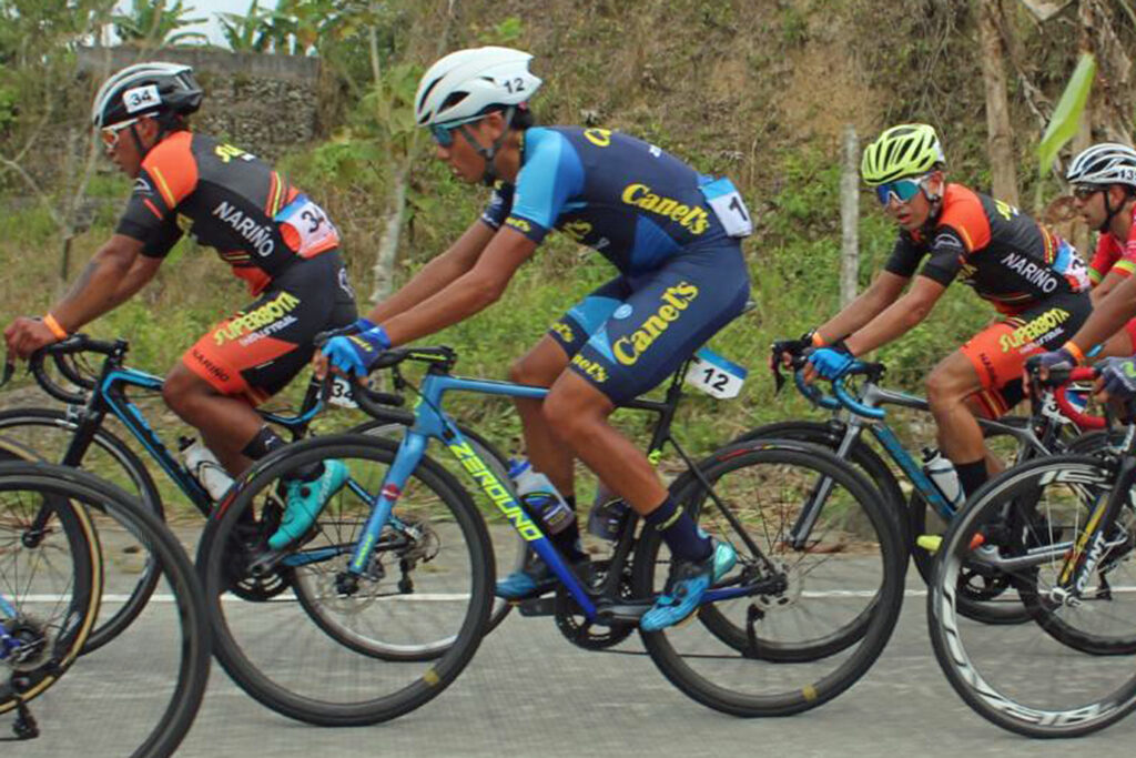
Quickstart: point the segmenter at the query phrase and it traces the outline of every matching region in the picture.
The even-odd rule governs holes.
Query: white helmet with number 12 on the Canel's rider
[[[477,116],[488,106],[518,106],[536,92],[541,80],[528,70],[533,59],[512,48],[458,50],[429,67],[415,93],[419,126]]]

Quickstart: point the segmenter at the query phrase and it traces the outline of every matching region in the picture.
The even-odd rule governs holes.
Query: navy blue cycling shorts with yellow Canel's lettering
[[[620,405],[651,390],[745,308],[741,244],[684,252],[641,275],[618,276],[549,330],[569,366]]]

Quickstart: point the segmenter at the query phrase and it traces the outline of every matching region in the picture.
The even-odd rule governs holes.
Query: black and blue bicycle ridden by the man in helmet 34
[[[130,492],[137,493],[142,502],[159,518],[165,519],[165,508],[158,486],[145,465],[117,434],[106,426],[109,416],[117,418],[127,433],[139,442],[142,450],[169,476],[190,505],[208,517],[215,502],[201,483],[186,469],[169,448],[158,438],[139,406],[128,397],[128,391],[142,391],[151,395],[161,392],[162,380],[145,372],[130,368],[125,358],[130,344],[124,340],[102,341],[84,334],[75,334],[61,342],[37,351],[28,361],[28,370],[35,382],[50,397],[67,403],[66,409],[17,408],[0,411],[0,434],[19,440],[25,447],[43,451],[65,466],[89,467],[100,476]],[[84,370],[83,364],[91,356],[101,357],[101,365]],[[53,378],[47,368],[51,359],[62,378],[76,389],[69,389]],[[3,381],[7,383],[15,367],[6,364]],[[312,378],[294,415],[261,414],[265,420],[283,427],[290,436],[300,439],[308,434],[311,420],[325,408],[326,402],[344,393],[345,385],[325,384]],[[393,407],[402,403],[402,398],[384,393],[382,406],[376,407],[374,419],[354,428],[359,433],[390,435],[401,428],[407,416],[398,414]],[[506,464],[495,449],[488,447],[478,434],[462,427],[478,447],[486,460],[504,470]],[[283,503],[272,515],[279,517]],[[134,545],[124,545],[135,549]],[[517,560],[523,560],[518,553]],[[105,608],[99,624],[86,640],[84,652],[92,652],[119,635],[145,607],[153,591],[156,577],[143,567],[136,578],[122,577],[123,586],[112,588],[112,594],[125,595],[122,603]],[[286,576],[264,577],[259,582],[245,582],[236,588],[249,600],[268,600],[287,588]],[[500,623],[509,613],[507,603],[494,606],[494,619]]]

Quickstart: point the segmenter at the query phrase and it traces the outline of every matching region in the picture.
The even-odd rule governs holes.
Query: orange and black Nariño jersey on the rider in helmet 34
[[[339,244],[326,214],[262,160],[202,134],[174,132],[142,161],[117,232],[165,257],[187,231],[216,248],[253,293],[298,257]]]

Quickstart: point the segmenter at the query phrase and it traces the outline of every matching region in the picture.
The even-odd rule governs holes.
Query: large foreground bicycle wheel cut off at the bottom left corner
[[[27,526],[42,507],[51,518],[35,542]],[[14,689],[26,689],[16,677],[31,677],[22,697],[35,697],[35,747],[44,755],[173,755],[193,723],[209,672],[200,586],[174,536],[122,490],[50,464],[0,464],[0,594],[15,595],[19,611],[6,626],[45,642],[23,666],[0,664],[11,673],[0,683],[0,713],[16,707]],[[95,623],[102,578],[118,570],[100,559],[100,538],[116,532],[128,532],[149,552],[158,597],[120,644],[77,663]],[[56,632],[52,618],[62,619]]]

